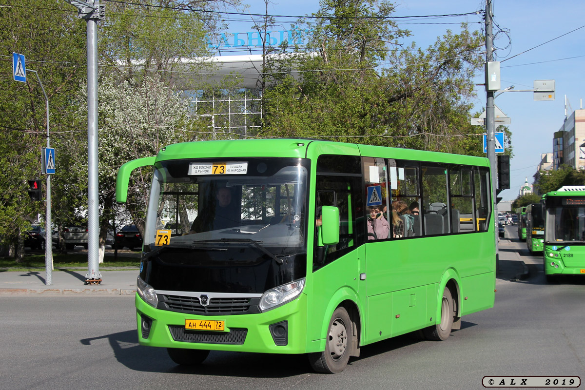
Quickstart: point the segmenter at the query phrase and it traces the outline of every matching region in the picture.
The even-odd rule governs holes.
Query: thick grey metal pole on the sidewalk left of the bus
[[[105,18],[99,0],[65,0],[78,9],[77,17],[87,22],[87,274],[85,282],[99,284],[99,201],[98,201],[98,20]]]

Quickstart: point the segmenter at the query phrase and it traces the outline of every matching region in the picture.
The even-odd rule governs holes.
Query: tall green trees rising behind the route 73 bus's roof
[[[403,49],[408,32],[384,19],[392,12],[383,1],[322,2],[304,56],[280,61],[300,77],[275,79],[263,96],[260,135],[483,156],[483,129],[469,123],[482,37],[462,25],[427,50]]]

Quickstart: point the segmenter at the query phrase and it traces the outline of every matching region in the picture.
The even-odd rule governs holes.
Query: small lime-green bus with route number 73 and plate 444
[[[123,164],[118,202],[146,166],[138,338],[177,364],[211,350],[307,354],[314,370],[339,372],[361,346],[415,331],[445,340],[494,305],[486,158],[309,139],[180,143]]]

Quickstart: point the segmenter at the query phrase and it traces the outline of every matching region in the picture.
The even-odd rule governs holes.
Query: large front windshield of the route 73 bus
[[[269,256],[306,252],[307,167],[299,158],[157,163],[144,251],[229,245]],[[168,241],[157,239],[160,230],[170,230]]]

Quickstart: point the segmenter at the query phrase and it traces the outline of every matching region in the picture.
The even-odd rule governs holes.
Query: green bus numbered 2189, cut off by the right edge
[[[543,195],[545,276],[585,275],[585,187],[565,186]]]

